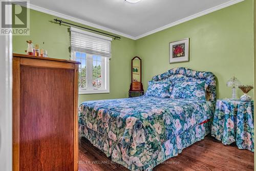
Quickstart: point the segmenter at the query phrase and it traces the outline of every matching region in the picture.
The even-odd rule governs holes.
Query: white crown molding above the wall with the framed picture
[[[156,32],[162,31],[162,30],[165,30],[165,29],[167,29],[167,28],[170,28],[170,27],[179,25],[179,24],[181,24],[181,23],[185,23],[185,22],[187,22],[187,21],[189,21],[189,20],[191,20],[191,19],[195,19],[195,18],[197,18],[197,17],[200,17],[200,16],[203,16],[203,15],[209,14],[209,13],[211,13],[211,12],[214,12],[214,11],[217,11],[217,10],[220,10],[220,9],[223,9],[223,8],[226,8],[226,7],[229,7],[229,6],[231,6],[231,5],[234,5],[234,4],[243,2],[243,1],[244,1],[244,0],[231,0],[231,1],[228,1],[228,2],[226,2],[226,3],[224,3],[224,4],[220,4],[220,5],[218,5],[218,6],[209,8],[209,9],[204,10],[204,11],[201,11],[201,12],[199,12],[199,13],[190,15],[190,16],[185,17],[185,18],[182,18],[182,19],[180,19],[180,20],[178,20],[178,21],[176,21],[176,22],[170,23],[170,24],[165,25],[165,26],[163,26],[163,27],[160,27],[160,28],[158,28],[158,29],[155,29],[155,30],[152,30],[152,31],[150,31],[150,32],[147,32],[147,33],[141,34],[141,35],[139,35],[139,36],[136,36],[136,37],[135,37],[135,40],[140,39],[140,38],[145,37],[145,36],[148,36],[148,35],[151,35],[151,34],[153,34],[153,33],[156,33]]]

